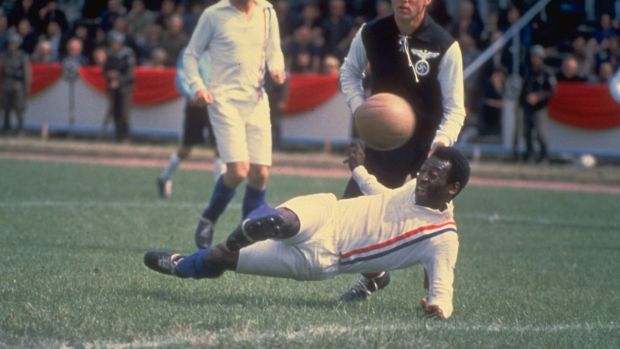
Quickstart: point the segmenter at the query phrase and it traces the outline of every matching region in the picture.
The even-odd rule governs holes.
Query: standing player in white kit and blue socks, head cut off
[[[205,51],[211,57],[206,84],[198,71]],[[226,163],[194,232],[196,245],[206,248],[241,182],[248,180],[242,217],[265,203],[272,148],[265,72],[277,84],[286,79],[273,6],[266,0],[222,0],[208,7],[183,54],[183,66],[192,100],[208,105],[217,149]]]

